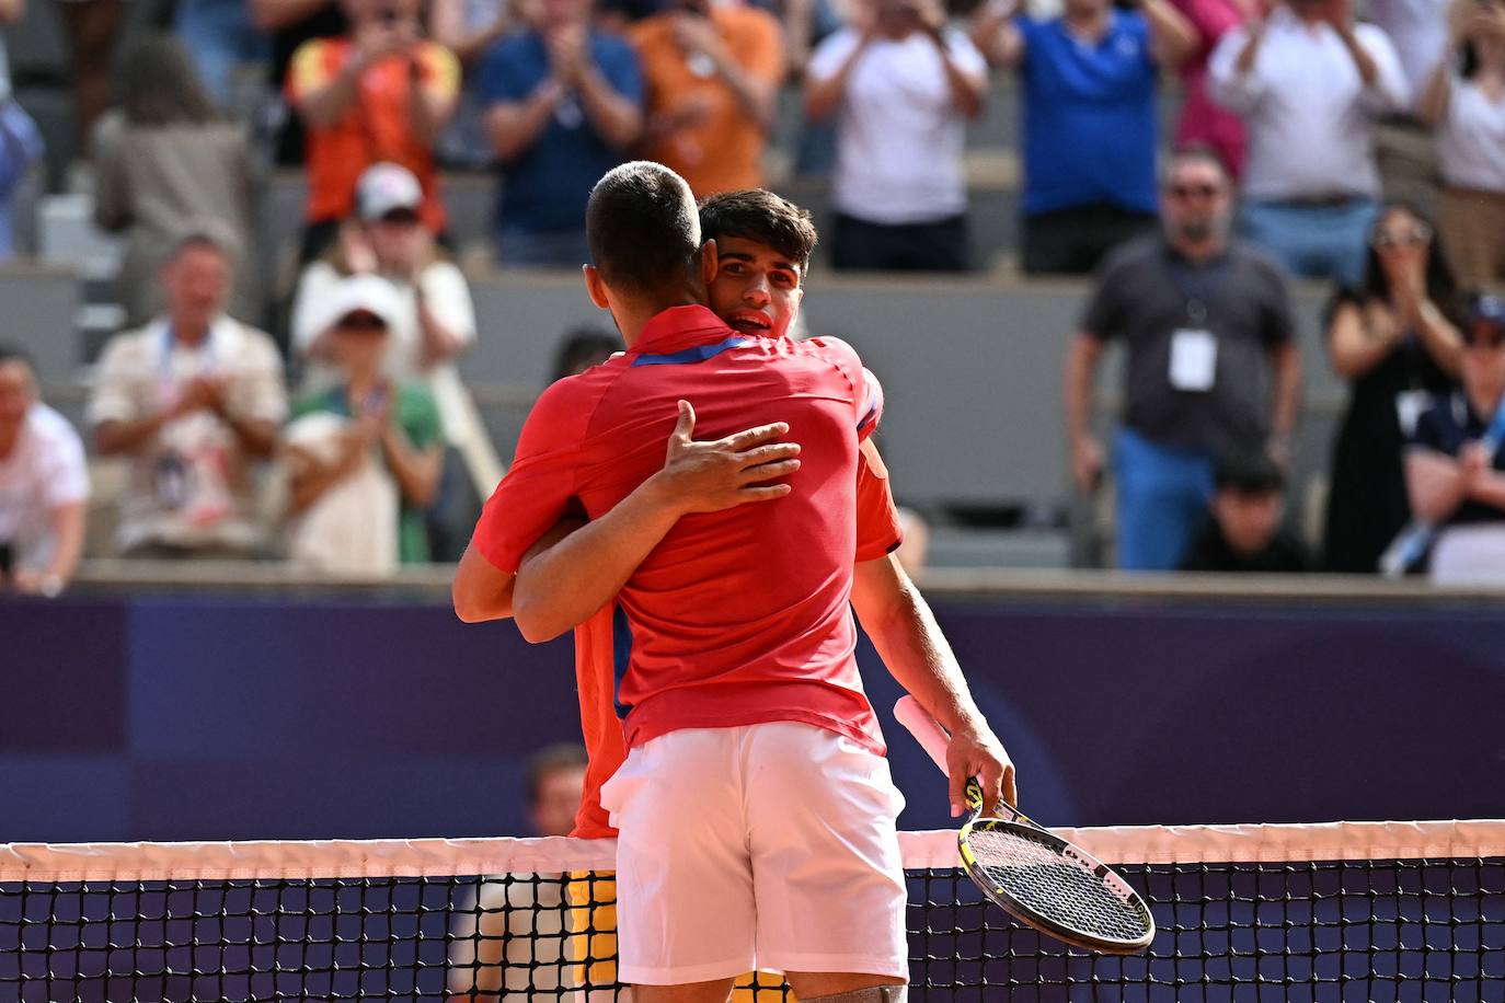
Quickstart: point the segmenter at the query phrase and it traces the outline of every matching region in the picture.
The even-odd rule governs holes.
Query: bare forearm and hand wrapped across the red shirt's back
[[[799,445],[777,441],[789,426],[775,423],[695,442],[695,411],[683,400],[679,409],[664,469],[607,514],[575,532],[540,540],[524,556],[512,617],[528,641],[551,641],[590,620],[616,598],[680,516],[774,501],[790,492],[789,484],[766,483],[799,469]]]

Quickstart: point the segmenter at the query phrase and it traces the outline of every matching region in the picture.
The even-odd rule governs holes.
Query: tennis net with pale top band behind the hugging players
[[[1505,821],[1058,830],[1159,935],[1090,956],[901,833],[911,997],[1505,1003]],[[572,839],[0,845],[0,1000],[619,998],[614,845]],[[789,998],[760,976],[739,1000]]]

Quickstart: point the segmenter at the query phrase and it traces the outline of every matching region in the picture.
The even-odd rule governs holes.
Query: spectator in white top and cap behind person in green
[[[339,245],[309,265],[292,308],[292,343],[309,359],[307,385],[328,385],[336,350],[328,335],[327,304],[342,278],[376,274],[391,283],[397,307],[391,319],[387,376],[420,382],[439,408],[445,456],[439,499],[430,511],[433,559],[459,559],[476,525],[480,498],[501,480],[501,462],[456,361],[476,341],[476,307],[465,275],[441,257],[418,212],[423,191],[411,171],[376,164],[361,174],[358,220],[342,230]],[[467,472],[470,481],[467,484]]]

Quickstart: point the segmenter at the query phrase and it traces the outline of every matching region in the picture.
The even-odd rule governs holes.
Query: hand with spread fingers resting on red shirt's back
[[[799,444],[783,442],[783,421],[722,439],[695,441],[695,409],[679,402],[679,421],[668,438],[664,469],[655,475],[667,504],[680,514],[734,508],[783,498],[789,484],[771,484],[799,469]]]

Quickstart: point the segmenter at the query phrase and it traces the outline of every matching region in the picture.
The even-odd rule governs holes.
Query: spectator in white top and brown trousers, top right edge
[[[1505,3],[1458,0],[1449,53],[1416,105],[1437,126],[1437,221],[1464,289],[1505,281]]]

